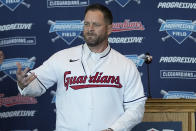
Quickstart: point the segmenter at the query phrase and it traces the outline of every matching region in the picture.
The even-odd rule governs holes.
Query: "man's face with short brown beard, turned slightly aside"
[[[111,25],[107,25],[104,21],[102,12],[88,11],[84,18],[84,40],[90,47],[107,43],[108,35],[111,33]]]

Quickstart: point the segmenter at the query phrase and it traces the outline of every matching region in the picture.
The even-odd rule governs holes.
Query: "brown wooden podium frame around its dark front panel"
[[[148,99],[143,122],[182,122],[182,131],[195,131],[196,99]]]

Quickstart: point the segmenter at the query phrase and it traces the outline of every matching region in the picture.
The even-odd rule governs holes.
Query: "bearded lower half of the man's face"
[[[84,33],[84,40],[89,47],[95,47],[107,39],[107,33],[97,35],[95,33]]]

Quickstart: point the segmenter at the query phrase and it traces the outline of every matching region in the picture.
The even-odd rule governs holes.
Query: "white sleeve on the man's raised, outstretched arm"
[[[18,87],[21,95],[24,96],[41,96],[46,92],[46,89],[54,85],[57,82],[57,75],[55,71],[55,60],[56,56],[51,56],[38,68],[31,70],[28,75],[32,72],[35,73],[37,78],[33,80],[27,87],[23,90]]]

